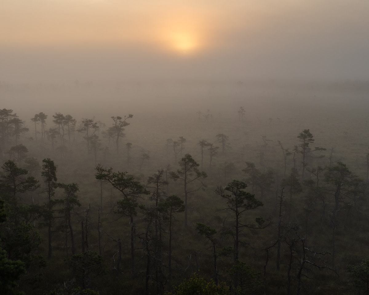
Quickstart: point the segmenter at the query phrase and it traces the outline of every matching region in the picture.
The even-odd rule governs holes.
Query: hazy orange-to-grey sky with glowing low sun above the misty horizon
[[[0,0],[0,81],[369,77],[368,0]]]

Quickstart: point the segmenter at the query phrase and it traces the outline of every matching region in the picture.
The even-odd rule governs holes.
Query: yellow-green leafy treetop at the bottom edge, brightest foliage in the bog
[[[213,280],[207,282],[199,274],[193,274],[166,295],[228,295],[230,288],[224,283],[216,285]]]

